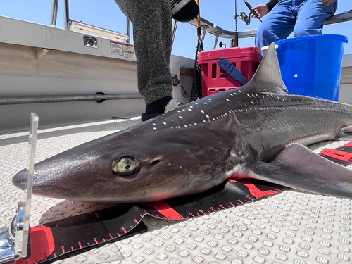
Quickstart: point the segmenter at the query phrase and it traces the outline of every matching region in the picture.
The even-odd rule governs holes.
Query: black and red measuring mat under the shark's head
[[[145,232],[144,215],[182,220],[233,208],[287,188],[268,182],[226,181],[202,194],[182,196],[156,203],[119,204],[92,213],[72,216],[30,228],[29,255],[16,264],[46,263],[65,258],[93,246]],[[11,262],[10,262],[11,263]]]

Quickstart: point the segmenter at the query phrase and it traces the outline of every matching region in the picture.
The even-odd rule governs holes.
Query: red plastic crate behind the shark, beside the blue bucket
[[[263,58],[256,47],[213,49],[201,52],[198,63],[202,71],[203,97],[243,86],[241,82],[234,80],[220,68],[218,61],[222,57],[241,70],[247,80],[251,80]]]

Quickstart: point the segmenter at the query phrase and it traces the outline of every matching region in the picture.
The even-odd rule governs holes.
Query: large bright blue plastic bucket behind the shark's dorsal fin
[[[275,42],[282,79],[291,94],[339,101],[344,44],[337,34],[295,37]]]

